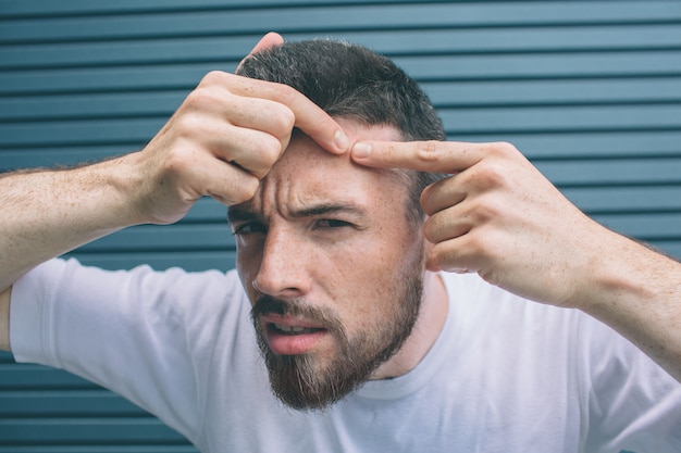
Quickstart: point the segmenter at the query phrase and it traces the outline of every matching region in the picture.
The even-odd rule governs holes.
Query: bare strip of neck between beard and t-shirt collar
[[[437,340],[448,310],[445,284],[439,275],[425,272],[423,302],[411,335],[400,350],[372,374],[371,379],[395,378],[416,368]]]

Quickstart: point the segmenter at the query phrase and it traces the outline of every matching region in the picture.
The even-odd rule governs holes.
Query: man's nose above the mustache
[[[305,241],[284,230],[268,231],[253,288],[277,298],[299,298],[310,291],[309,255]]]

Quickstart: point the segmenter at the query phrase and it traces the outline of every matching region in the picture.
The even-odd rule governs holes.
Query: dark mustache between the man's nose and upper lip
[[[329,330],[345,332],[343,323],[333,311],[312,306],[301,299],[282,300],[271,295],[261,295],[250,311],[251,319],[256,322],[259,316],[271,314],[301,317],[320,323]]]

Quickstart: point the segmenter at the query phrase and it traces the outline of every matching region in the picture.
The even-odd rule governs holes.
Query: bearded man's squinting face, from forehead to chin
[[[396,140],[345,122],[356,140]],[[372,377],[418,317],[423,236],[394,171],[298,136],[256,197],[230,209],[237,269],[275,394],[322,408]]]

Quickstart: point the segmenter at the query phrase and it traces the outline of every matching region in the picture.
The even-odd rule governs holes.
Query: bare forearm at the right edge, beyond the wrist
[[[604,242],[578,306],[681,381],[681,264],[619,235]]]

